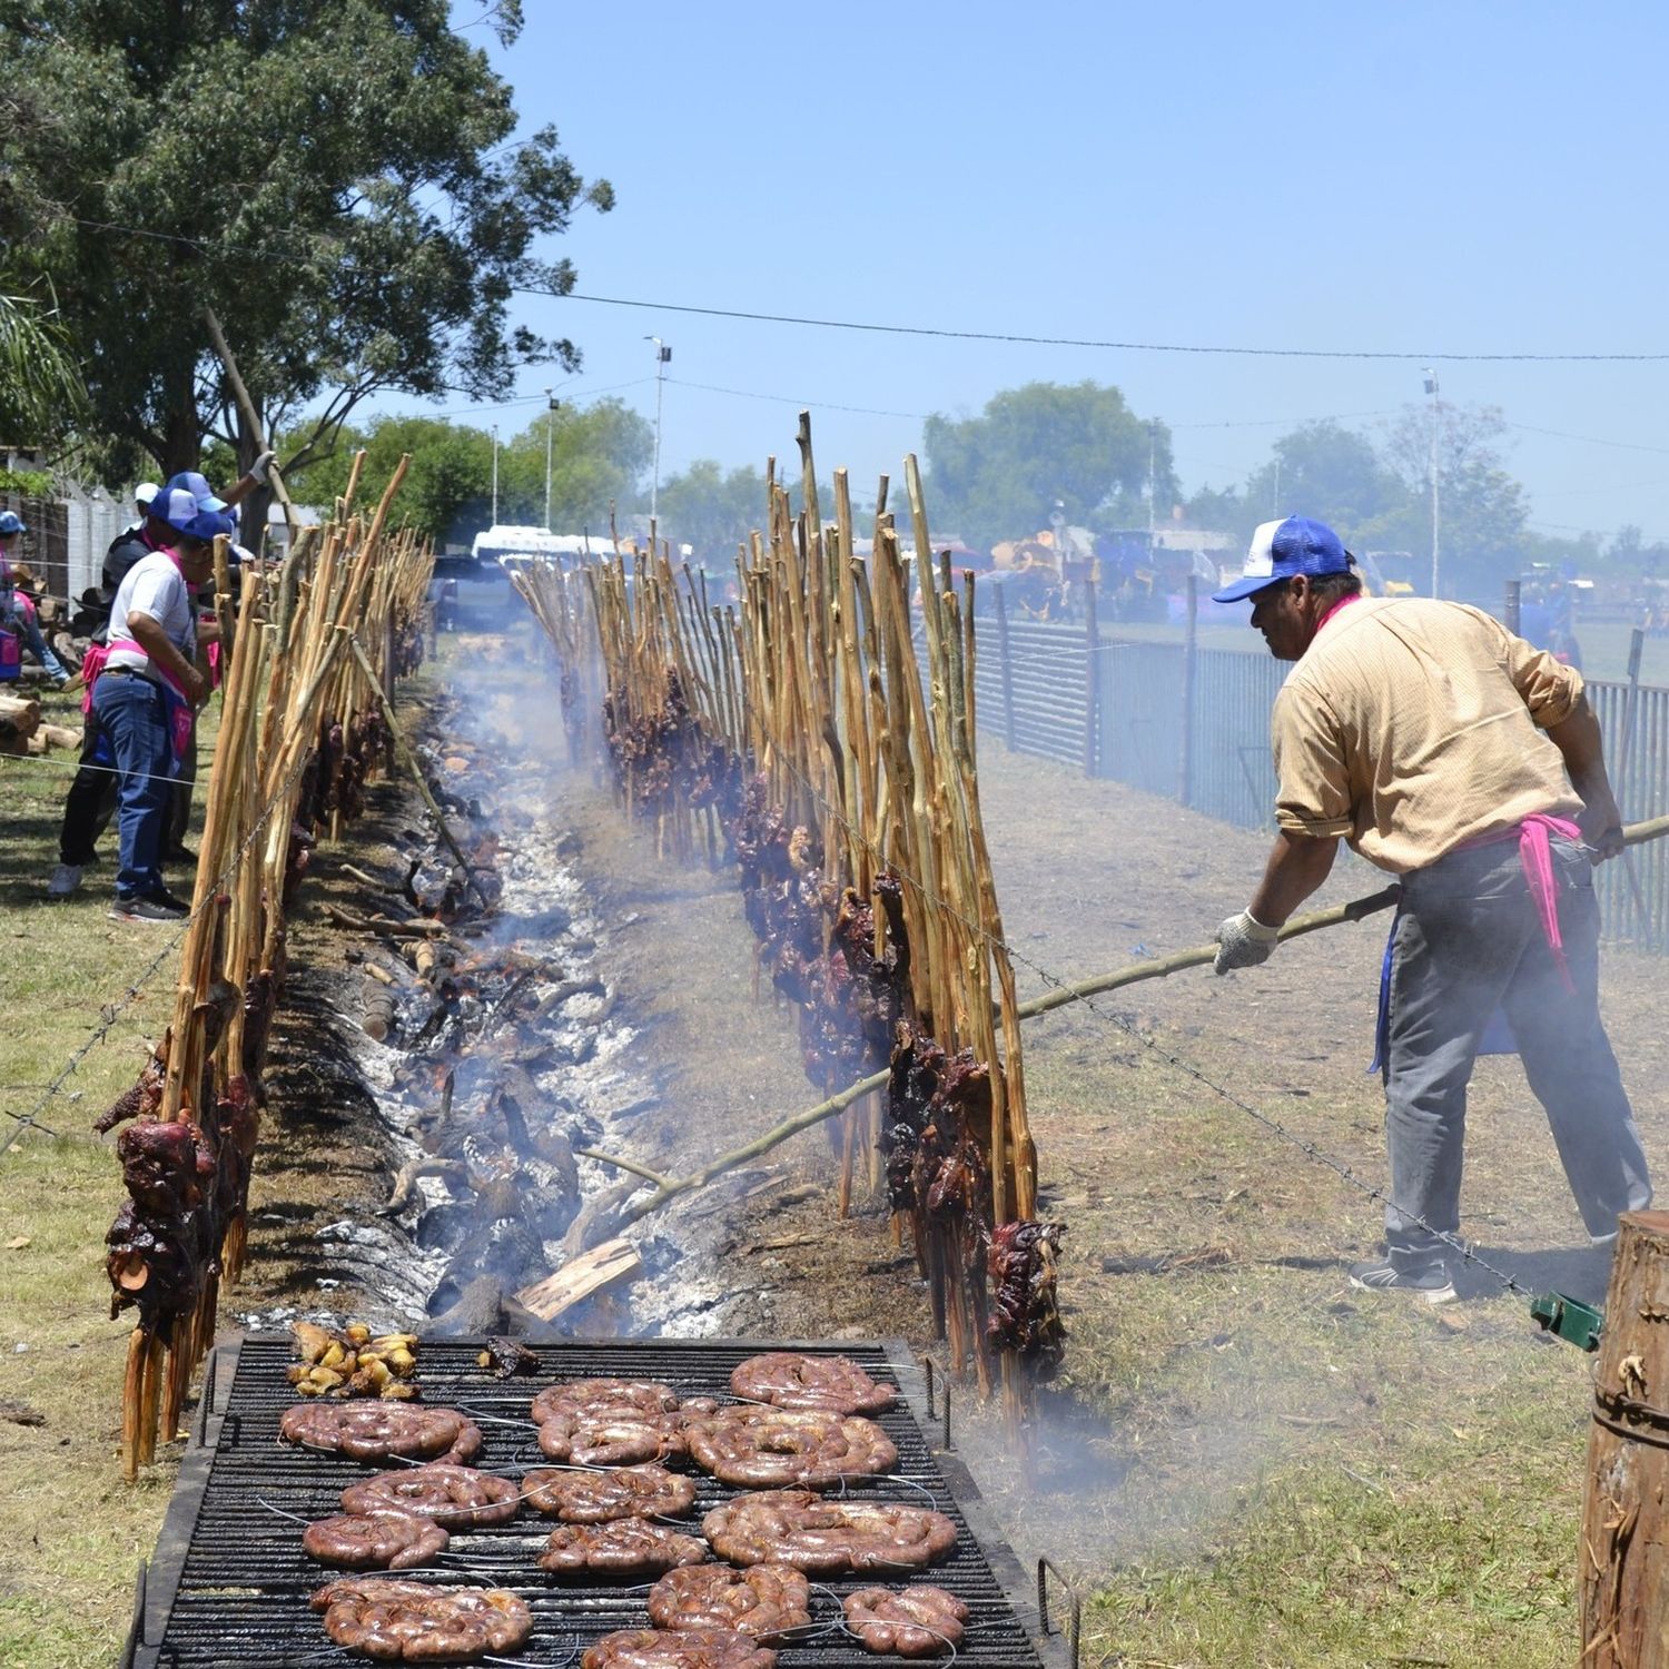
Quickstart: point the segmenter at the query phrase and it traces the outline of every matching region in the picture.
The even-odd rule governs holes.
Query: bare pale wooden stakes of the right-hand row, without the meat
[[[704,833],[711,853],[718,819],[739,848],[749,818],[758,824],[769,808],[779,841],[791,831],[798,880],[821,891],[824,948],[848,920],[843,910],[873,908],[876,961],[888,950],[876,881],[901,888],[910,1028],[946,1056],[970,1050],[988,1070],[990,1128],[980,1135],[991,1223],[1030,1220],[1036,1148],[975,754],[973,579],[958,589],[948,559],[931,561],[913,457],[913,559],[886,477],[868,561],[843,469],[824,522],[806,414],[799,466],[796,507],[771,461],[764,529],[738,552],[734,584],[719,581],[723,598],[709,594],[706,574],[674,567],[653,536],[644,552],[616,546],[572,569],[531,564],[516,584],[556,649],[576,758],[601,739],[628,808],[654,819],[663,846],[691,855]],[[885,1065],[886,1041],[841,1082]],[[834,1088],[818,1061],[808,1071]],[[863,1110],[843,1117],[855,1128]],[[988,1384],[983,1262],[970,1268],[951,1248],[916,1250],[953,1365],[971,1364]],[[1008,1354],[1001,1367],[1005,1394],[1020,1395],[1023,1369]]]

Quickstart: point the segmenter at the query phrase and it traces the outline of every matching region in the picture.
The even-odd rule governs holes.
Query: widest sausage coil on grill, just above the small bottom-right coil
[[[818,1572],[920,1569],[956,1545],[956,1525],[931,1507],[824,1500],[808,1489],[738,1495],[701,1520],[701,1534],[731,1564]]]

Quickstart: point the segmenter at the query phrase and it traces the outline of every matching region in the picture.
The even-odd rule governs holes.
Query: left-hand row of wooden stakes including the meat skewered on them
[[[125,1125],[129,1200],[105,1238],[112,1315],[139,1312],[122,1394],[129,1477],[159,1430],[174,1437],[220,1287],[244,1263],[285,911],[320,834],[361,813],[391,741],[387,691],[421,658],[432,552],[386,532],[402,476],[404,464],[369,519],[350,486],[282,566],[244,562],[235,598],[225,542],[215,551],[229,654],[174,1021],[97,1123]]]

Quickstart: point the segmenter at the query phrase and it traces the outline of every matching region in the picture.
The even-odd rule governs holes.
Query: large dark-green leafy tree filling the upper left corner
[[[519,5],[486,22],[507,45]],[[210,434],[252,457],[205,305],[267,429],[319,412],[292,464],[379,391],[494,399],[577,366],[509,297],[572,287],[534,239],[613,192],[554,129],[506,144],[511,88],[447,0],[0,0],[0,38],[37,117],[0,172],[15,264],[57,284],[113,471],[195,466]]]

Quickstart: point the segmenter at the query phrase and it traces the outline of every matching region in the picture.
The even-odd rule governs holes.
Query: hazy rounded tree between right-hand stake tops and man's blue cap
[[[1128,524],[1153,446],[1158,502],[1177,494],[1170,431],[1148,424],[1115,387],[1028,382],[993,396],[978,417],[931,416],[923,429],[936,527],[991,546],[1043,527],[1060,501],[1068,522]]]

